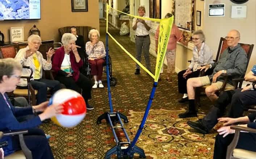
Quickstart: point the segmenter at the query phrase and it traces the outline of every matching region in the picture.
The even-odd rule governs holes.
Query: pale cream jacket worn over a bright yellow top
[[[33,59],[33,56],[30,56],[28,57],[27,59],[25,58],[25,55],[26,55],[26,50],[28,50],[29,47],[27,46],[26,48],[22,48],[18,51],[18,53],[16,54],[15,56],[15,59],[19,60],[21,62],[22,65],[24,66],[29,66],[32,68],[33,70],[33,77],[35,76],[35,63],[34,63],[34,59]],[[37,51],[35,53],[37,55],[37,60],[39,62],[39,64],[42,66],[41,67],[41,75],[40,75],[40,79],[42,78],[42,75],[43,75],[43,71],[42,69],[44,70],[51,70],[51,62],[50,63],[47,63],[46,60],[43,58],[43,55]],[[30,70],[29,69],[22,69],[22,76],[29,76],[30,75]],[[34,78],[32,78],[32,80],[34,80]],[[24,78],[21,78],[20,79],[20,83],[18,84],[19,86],[26,86],[28,85],[27,84],[27,80],[24,79]]]

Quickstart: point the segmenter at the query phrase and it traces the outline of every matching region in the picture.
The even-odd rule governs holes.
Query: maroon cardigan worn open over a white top
[[[56,76],[58,74],[58,71],[60,70],[60,66],[62,64],[62,61],[64,59],[64,55],[65,55],[65,51],[64,51],[64,47],[60,47],[59,49],[57,49],[55,51],[55,54],[54,54],[54,57],[53,57],[53,61],[52,61],[52,70],[54,71],[54,75]],[[79,78],[79,68],[81,66],[83,66],[83,61],[82,59],[77,63],[76,62],[76,58],[75,58],[75,55],[74,53],[70,52],[70,63],[71,63],[71,68],[72,70],[74,71],[72,73],[72,77],[75,81],[78,80]]]

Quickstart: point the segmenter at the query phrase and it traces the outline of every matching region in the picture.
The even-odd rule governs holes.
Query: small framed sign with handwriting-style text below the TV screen
[[[24,41],[24,27],[11,27],[10,28],[10,41],[18,42]]]

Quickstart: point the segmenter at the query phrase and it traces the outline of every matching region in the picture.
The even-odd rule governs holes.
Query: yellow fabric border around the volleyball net
[[[109,13],[110,7],[108,4],[106,5],[106,33],[119,45],[119,47],[128,54],[143,70],[145,70],[152,78],[154,78],[154,81],[157,82],[160,75],[160,70],[163,67],[164,57],[167,50],[167,45],[169,41],[169,36],[171,34],[172,24],[173,24],[173,16],[171,18],[165,18],[165,19],[155,19],[155,18],[145,18],[145,17],[139,17],[134,16],[131,14],[127,14],[124,12],[121,12],[119,10],[116,10],[112,8],[113,10],[116,10],[117,12],[126,14],[127,16],[140,18],[144,20],[150,20],[155,22],[160,22],[159,24],[159,39],[158,39],[158,54],[156,57],[156,68],[155,68],[155,75],[153,75],[146,67],[142,65],[135,57],[133,57],[118,41],[108,32],[108,13]]]

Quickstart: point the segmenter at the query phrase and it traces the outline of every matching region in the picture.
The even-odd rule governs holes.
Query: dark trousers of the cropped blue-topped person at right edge
[[[211,130],[218,123],[217,119],[224,115],[229,104],[231,108],[228,111],[228,117],[238,118],[243,115],[244,106],[256,104],[256,91],[241,92],[241,89],[235,89],[223,92],[209,113],[202,119],[202,124]]]

